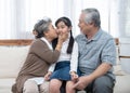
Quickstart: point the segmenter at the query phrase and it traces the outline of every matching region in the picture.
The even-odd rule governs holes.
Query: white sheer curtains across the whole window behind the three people
[[[32,27],[43,16],[53,24],[61,16],[69,17],[77,36],[79,15],[86,8],[100,11],[101,27],[112,36],[130,37],[129,4],[129,0],[0,0],[0,39],[34,38]]]

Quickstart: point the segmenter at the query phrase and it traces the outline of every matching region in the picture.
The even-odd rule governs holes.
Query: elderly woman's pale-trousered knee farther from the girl
[[[38,84],[32,80],[25,81],[23,93],[39,93]]]

